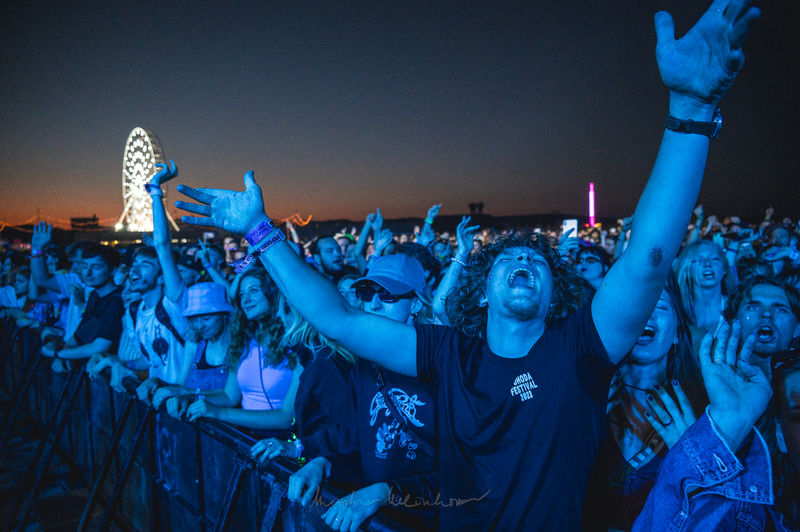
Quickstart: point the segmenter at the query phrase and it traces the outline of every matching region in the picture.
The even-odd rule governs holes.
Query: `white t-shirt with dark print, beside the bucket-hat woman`
[[[183,317],[186,305],[186,290],[181,293],[177,302],[164,296],[161,299],[172,326],[185,338],[188,323]],[[156,307],[146,308],[144,301],[139,303],[136,314],[136,341],[144,346],[150,362],[150,377],[175,384],[183,366],[183,346],[177,338],[161,322],[156,319]],[[141,347],[136,346],[141,351]],[[158,352],[156,351],[158,349]]]

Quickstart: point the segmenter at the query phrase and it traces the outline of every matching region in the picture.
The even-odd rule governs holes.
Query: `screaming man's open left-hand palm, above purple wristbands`
[[[185,223],[217,227],[230,233],[244,235],[267,219],[261,187],[256,183],[252,171],[244,174],[244,187],[243,192],[236,192],[216,188],[194,189],[178,185],[178,192],[200,203],[176,201],[175,206],[202,215],[182,216],[181,220]]]

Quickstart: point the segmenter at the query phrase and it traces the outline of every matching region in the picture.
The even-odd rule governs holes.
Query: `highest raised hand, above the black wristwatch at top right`
[[[664,84],[698,103],[716,105],[744,64],[742,44],[760,16],[749,0],[714,0],[676,41],[672,16],[656,13],[656,60]]]

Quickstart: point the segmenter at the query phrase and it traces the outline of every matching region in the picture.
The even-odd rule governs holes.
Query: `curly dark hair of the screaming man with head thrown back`
[[[479,302],[494,260],[503,251],[514,247],[533,249],[550,266],[553,274],[553,298],[547,311],[547,324],[554,319],[563,318],[586,303],[580,276],[572,264],[562,260],[555,240],[542,233],[510,232],[482,246],[470,256],[467,267],[458,279],[458,285],[447,297],[447,317],[465,335],[485,339],[487,309],[479,306]]]

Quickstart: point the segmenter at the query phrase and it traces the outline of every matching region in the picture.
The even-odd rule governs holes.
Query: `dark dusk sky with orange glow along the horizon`
[[[7,3],[6,3],[7,4]],[[274,218],[467,211],[629,214],[667,91],[653,14],[680,35],[703,2],[481,5],[24,2],[2,8],[0,221],[122,211],[131,129],[180,182],[240,188]],[[263,5],[262,5],[263,4]],[[622,4],[627,4],[623,6]],[[722,101],[706,213],[800,215],[798,9],[762,20]],[[170,186],[170,200],[177,194]]]

